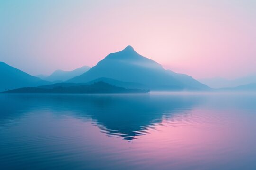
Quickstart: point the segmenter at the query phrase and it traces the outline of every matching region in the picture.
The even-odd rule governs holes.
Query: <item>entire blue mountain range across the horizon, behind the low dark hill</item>
[[[37,86],[48,89],[88,86],[101,81],[121,88],[153,91],[256,90],[256,75],[234,80],[209,78],[197,81],[191,76],[164,69],[159,63],[138,54],[131,46],[110,53],[92,68],[56,70],[50,76],[39,76],[44,80],[0,62],[0,91]]]

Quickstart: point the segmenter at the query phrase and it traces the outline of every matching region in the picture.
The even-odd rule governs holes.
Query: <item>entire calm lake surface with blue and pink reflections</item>
[[[256,94],[0,95],[0,169],[256,170]]]

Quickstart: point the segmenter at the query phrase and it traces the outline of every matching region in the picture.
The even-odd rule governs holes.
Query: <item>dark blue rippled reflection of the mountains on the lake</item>
[[[132,140],[146,134],[162,121],[163,115],[181,113],[198,104],[188,96],[170,95],[0,95],[1,121],[16,119],[21,112],[38,109],[54,114],[65,111],[71,116],[89,117],[108,136]]]

